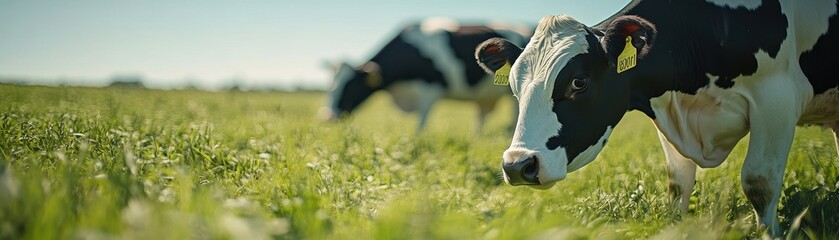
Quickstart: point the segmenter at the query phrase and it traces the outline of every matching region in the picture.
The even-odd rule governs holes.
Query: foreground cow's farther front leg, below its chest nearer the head
[[[693,192],[693,186],[696,185],[696,163],[682,156],[661,131],[658,132],[658,139],[661,141],[664,158],[667,160],[667,179],[670,182],[668,190],[671,200],[682,213],[687,213],[690,194]]]

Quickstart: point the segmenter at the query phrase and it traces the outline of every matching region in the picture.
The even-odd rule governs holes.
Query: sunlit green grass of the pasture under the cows
[[[427,131],[377,94],[341,123],[323,93],[0,85],[2,239],[740,239],[760,236],[739,184],[748,139],[672,210],[649,120],[546,191],[500,178],[509,103],[443,101]],[[779,215],[839,236],[839,159],[799,128]],[[806,211],[805,211],[806,209]],[[802,214],[803,213],[803,214]],[[800,217],[799,217],[800,216]],[[796,218],[798,217],[798,218]]]

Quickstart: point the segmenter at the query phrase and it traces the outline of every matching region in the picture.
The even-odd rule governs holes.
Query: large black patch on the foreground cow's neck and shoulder
[[[666,91],[696,94],[712,84],[708,74],[718,77],[716,86],[731,88],[737,77],[754,74],[755,54],[764,51],[777,57],[789,25],[778,0],[763,1],[754,11],[704,0],[635,0],[596,28],[605,32],[625,15],[647,19],[658,30],[649,55],[635,69],[618,75],[631,82],[628,110],[653,119],[649,100]]]

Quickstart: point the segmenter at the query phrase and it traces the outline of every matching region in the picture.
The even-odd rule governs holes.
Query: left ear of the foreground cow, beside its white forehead
[[[521,55],[521,48],[503,38],[490,38],[475,48],[478,66],[487,73],[495,73],[505,63],[512,64]]]

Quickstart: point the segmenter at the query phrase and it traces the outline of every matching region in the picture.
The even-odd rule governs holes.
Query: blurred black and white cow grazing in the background
[[[524,44],[530,34],[531,27],[500,22],[465,26],[430,18],[409,25],[362,66],[339,67],[325,115],[335,119],[349,114],[374,92],[386,90],[400,109],[419,113],[418,130],[425,126],[431,106],[443,97],[475,101],[480,129],[497,100],[509,96],[510,90],[494,86],[493,76],[475,63],[475,47],[490,38]]]

